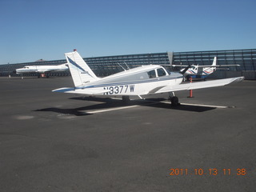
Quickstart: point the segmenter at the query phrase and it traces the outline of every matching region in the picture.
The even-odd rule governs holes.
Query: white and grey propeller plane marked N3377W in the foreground
[[[175,73],[158,65],[138,66],[105,78],[98,78],[76,50],[66,53],[65,56],[74,81],[74,87],[52,90],[54,92],[87,96],[103,95],[110,98],[122,96],[123,101],[130,100],[129,96],[138,96],[142,99],[143,96],[148,94],[169,93],[172,106],[178,106],[178,97],[174,95],[174,91],[225,86],[230,82],[240,82],[244,79],[244,77],[224,78],[208,82],[181,84],[183,74],[189,66],[182,73]]]

